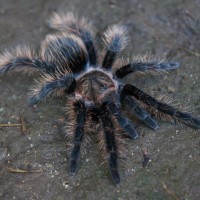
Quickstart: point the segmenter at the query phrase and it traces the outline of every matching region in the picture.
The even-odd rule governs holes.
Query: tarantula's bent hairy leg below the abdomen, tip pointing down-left
[[[65,74],[61,77],[56,77],[51,74],[45,74],[38,84],[30,91],[29,105],[34,105],[56,92],[72,93],[76,87],[76,80],[72,75]]]

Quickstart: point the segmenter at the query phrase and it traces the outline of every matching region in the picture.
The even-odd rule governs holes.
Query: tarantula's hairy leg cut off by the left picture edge
[[[31,70],[48,71],[53,65],[36,58],[32,50],[27,47],[17,47],[11,52],[5,51],[0,55],[0,74],[11,70],[30,72]]]

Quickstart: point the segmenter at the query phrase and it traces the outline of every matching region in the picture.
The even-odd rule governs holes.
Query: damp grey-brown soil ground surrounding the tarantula
[[[180,62],[180,68],[169,74],[130,75],[125,81],[148,93],[169,95],[179,108],[200,116],[199,0],[1,0],[1,52],[19,44],[39,49],[40,41],[52,32],[47,19],[58,10],[87,17],[97,27],[98,38],[109,25],[126,24],[131,40],[125,56],[150,53]],[[139,139],[124,138],[126,155],[120,161],[124,164],[118,186],[95,140],[81,157],[76,176],[70,177],[63,137],[65,99],[29,107],[27,93],[37,77],[0,77],[0,124],[18,124],[24,118],[27,128],[24,133],[17,126],[0,127],[0,199],[200,199],[199,130],[162,120],[157,131],[138,123]],[[145,168],[144,149],[150,157]]]

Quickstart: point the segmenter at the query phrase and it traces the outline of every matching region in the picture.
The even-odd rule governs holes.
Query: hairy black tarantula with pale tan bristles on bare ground
[[[87,20],[78,19],[71,13],[54,13],[49,25],[57,32],[46,36],[39,55],[28,46],[6,51],[0,56],[0,74],[10,70],[40,72],[40,79],[30,91],[30,105],[49,95],[66,97],[69,117],[67,121],[71,125],[67,134],[73,134],[69,169],[71,175],[77,171],[81,144],[86,138],[85,124],[95,121],[102,127],[101,138],[112,180],[115,184],[120,182],[115,124],[131,139],[138,137],[135,124],[121,113],[123,105],[128,108],[127,112],[154,130],[158,129],[158,124],[148,112],[153,110],[200,128],[199,119],[156,100],[132,84],[123,82],[124,77],[135,72],[174,70],[179,67],[178,62],[135,56],[130,63],[121,62],[120,67],[115,69],[114,63],[118,54],[128,44],[125,26],[113,25],[104,33],[105,53],[99,61],[95,31]]]

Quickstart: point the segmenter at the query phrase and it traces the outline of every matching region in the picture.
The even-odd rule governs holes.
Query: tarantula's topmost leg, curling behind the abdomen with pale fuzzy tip
[[[49,26],[56,30],[78,35],[86,46],[90,65],[95,66],[97,64],[97,53],[94,44],[95,31],[85,18],[78,19],[72,13],[53,13],[49,20]]]

